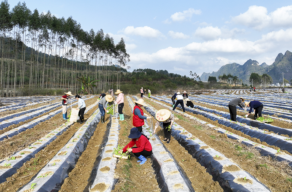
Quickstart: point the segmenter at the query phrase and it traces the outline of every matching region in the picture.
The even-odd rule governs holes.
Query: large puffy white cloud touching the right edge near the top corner
[[[233,17],[231,21],[256,30],[266,27],[292,27],[292,5],[278,8],[269,14],[266,7],[252,5],[245,13]]]

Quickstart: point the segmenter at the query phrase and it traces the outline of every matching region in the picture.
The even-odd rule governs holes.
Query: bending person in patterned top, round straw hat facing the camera
[[[163,133],[165,137],[163,141],[166,141],[166,143],[169,143],[170,137],[171,137],[171,127],[174,122],[174,115],[167,109],[160,109],[159,111],[156,112],[155,118],[157,122],[155,124],[153,135],[155,134],[156,129],[158,128],[160,122],[162,122]]]

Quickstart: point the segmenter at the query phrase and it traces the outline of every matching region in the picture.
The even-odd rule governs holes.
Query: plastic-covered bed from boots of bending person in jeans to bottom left
[[[60,190],[64,179],[68,177],[68,173],[75,167],[80,155],[86,149],[98,124],[98,119],[100,119],[99,109],[93,112],[86,123],[78,129],[70,141],[57,152],[50,162],[29,183],[17,191],[29,190],[32,183],[36,183],[34,189],[38,192]]]

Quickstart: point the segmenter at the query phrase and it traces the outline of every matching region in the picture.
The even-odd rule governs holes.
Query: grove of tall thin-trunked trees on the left
[[[72,17],[32,12],[25,3],[10,10],[7,0],[0,5],[0,57],[1,97],[76,93],[78,78],[96,82],[95,93],[119,89],[130,61],[123,38],[115,45],[102,29],[84,31]]]

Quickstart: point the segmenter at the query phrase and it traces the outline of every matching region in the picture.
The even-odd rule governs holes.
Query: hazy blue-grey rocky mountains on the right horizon
[[[242,79],[244,84],[249,84],[249,77],[252,73],[257,73],[259,75],[266,73],[273,78],[273,83],[282,82],[282,73],[284,73],[284,78],[290,81],[290,79],[292,79],[292,53],[288,50],[285,55],[279,53],[275,62],[270,66],[266,63],[259,65],[259,62],[251,59],[247,60],[243,65],[229,63],[222,66],[216,72],[203,73],[200,78],[202,81],[208,81],[209,76],[218,79],[219,75],[231,74],[237,76],[238,79]]]

